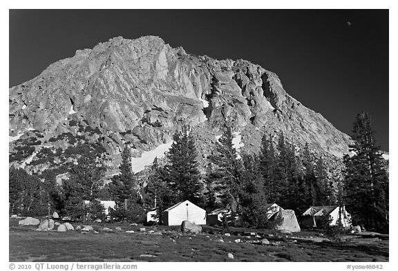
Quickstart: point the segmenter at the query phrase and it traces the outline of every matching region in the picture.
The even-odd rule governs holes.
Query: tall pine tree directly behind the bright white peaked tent
[[[165,181],[174,191],[176,202],[189,200],[198,204],[202,201],[203,185],[197,156],[193,137],[189,128],[184,126],[173,135],[173,143],[166,156],[168,163],[164,166]]]

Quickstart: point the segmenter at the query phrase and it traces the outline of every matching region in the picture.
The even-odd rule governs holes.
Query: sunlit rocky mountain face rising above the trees
[[[44,148],[65,152],[79,141],[99,143],[110,157],[128,145],[140,157],[184,124],[197,128],[198,139],[214,141],[227,122],[249,152],[258,151],[264,133],[284,132],[335,157],[350,142],[290,97],[274,72],[187,54],[159,37],[117,37],[77,50],[9,93],[10,162],[28,168]]]

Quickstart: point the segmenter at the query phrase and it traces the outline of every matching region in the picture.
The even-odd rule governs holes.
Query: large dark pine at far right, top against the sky
[[[368,113],[357,114],[352,129],[352,157],[345,155],[345,202],[357,223],[388,224],[388,174],[375,143]]]

